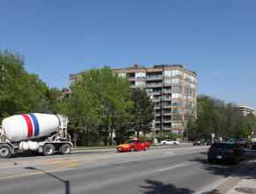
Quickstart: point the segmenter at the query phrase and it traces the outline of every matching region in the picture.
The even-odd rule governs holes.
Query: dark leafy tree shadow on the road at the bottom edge
[[[140,186],[143,189],[147,189],[145,191],[145,194],[161,194],[161,193],[171,193],[171,194],[176,194],[176,193],[183,193],[183,194],[191,194],[194,191],[185,189],[185,188],[177,188],[173,186],[172,184],[163,184],[158,181],[153,181],[153,180],[146,180],[147,186],[143,185]]]

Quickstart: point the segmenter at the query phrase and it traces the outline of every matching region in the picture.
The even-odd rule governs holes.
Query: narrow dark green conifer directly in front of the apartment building
[[[151,131],[151,124],[154,120],[154,103],[150,100],[145,90],[132,89],[132,129],[137,132],[147,133]]]

